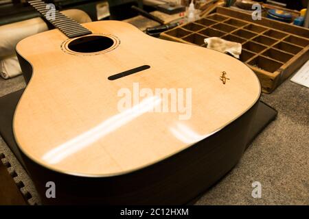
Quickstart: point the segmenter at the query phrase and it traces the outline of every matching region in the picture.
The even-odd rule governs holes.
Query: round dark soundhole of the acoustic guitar
[[[78,53],[95,53],[111,48],[113,44],[107,36],[83,36],[69,42],[67,47]]]

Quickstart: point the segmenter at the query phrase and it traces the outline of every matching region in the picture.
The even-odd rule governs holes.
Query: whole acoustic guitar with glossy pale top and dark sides
[[[43,203],[183,204],[238,162],[261,92],[249,67],[29,3],[56,27],[16,46],[14,137]]]

